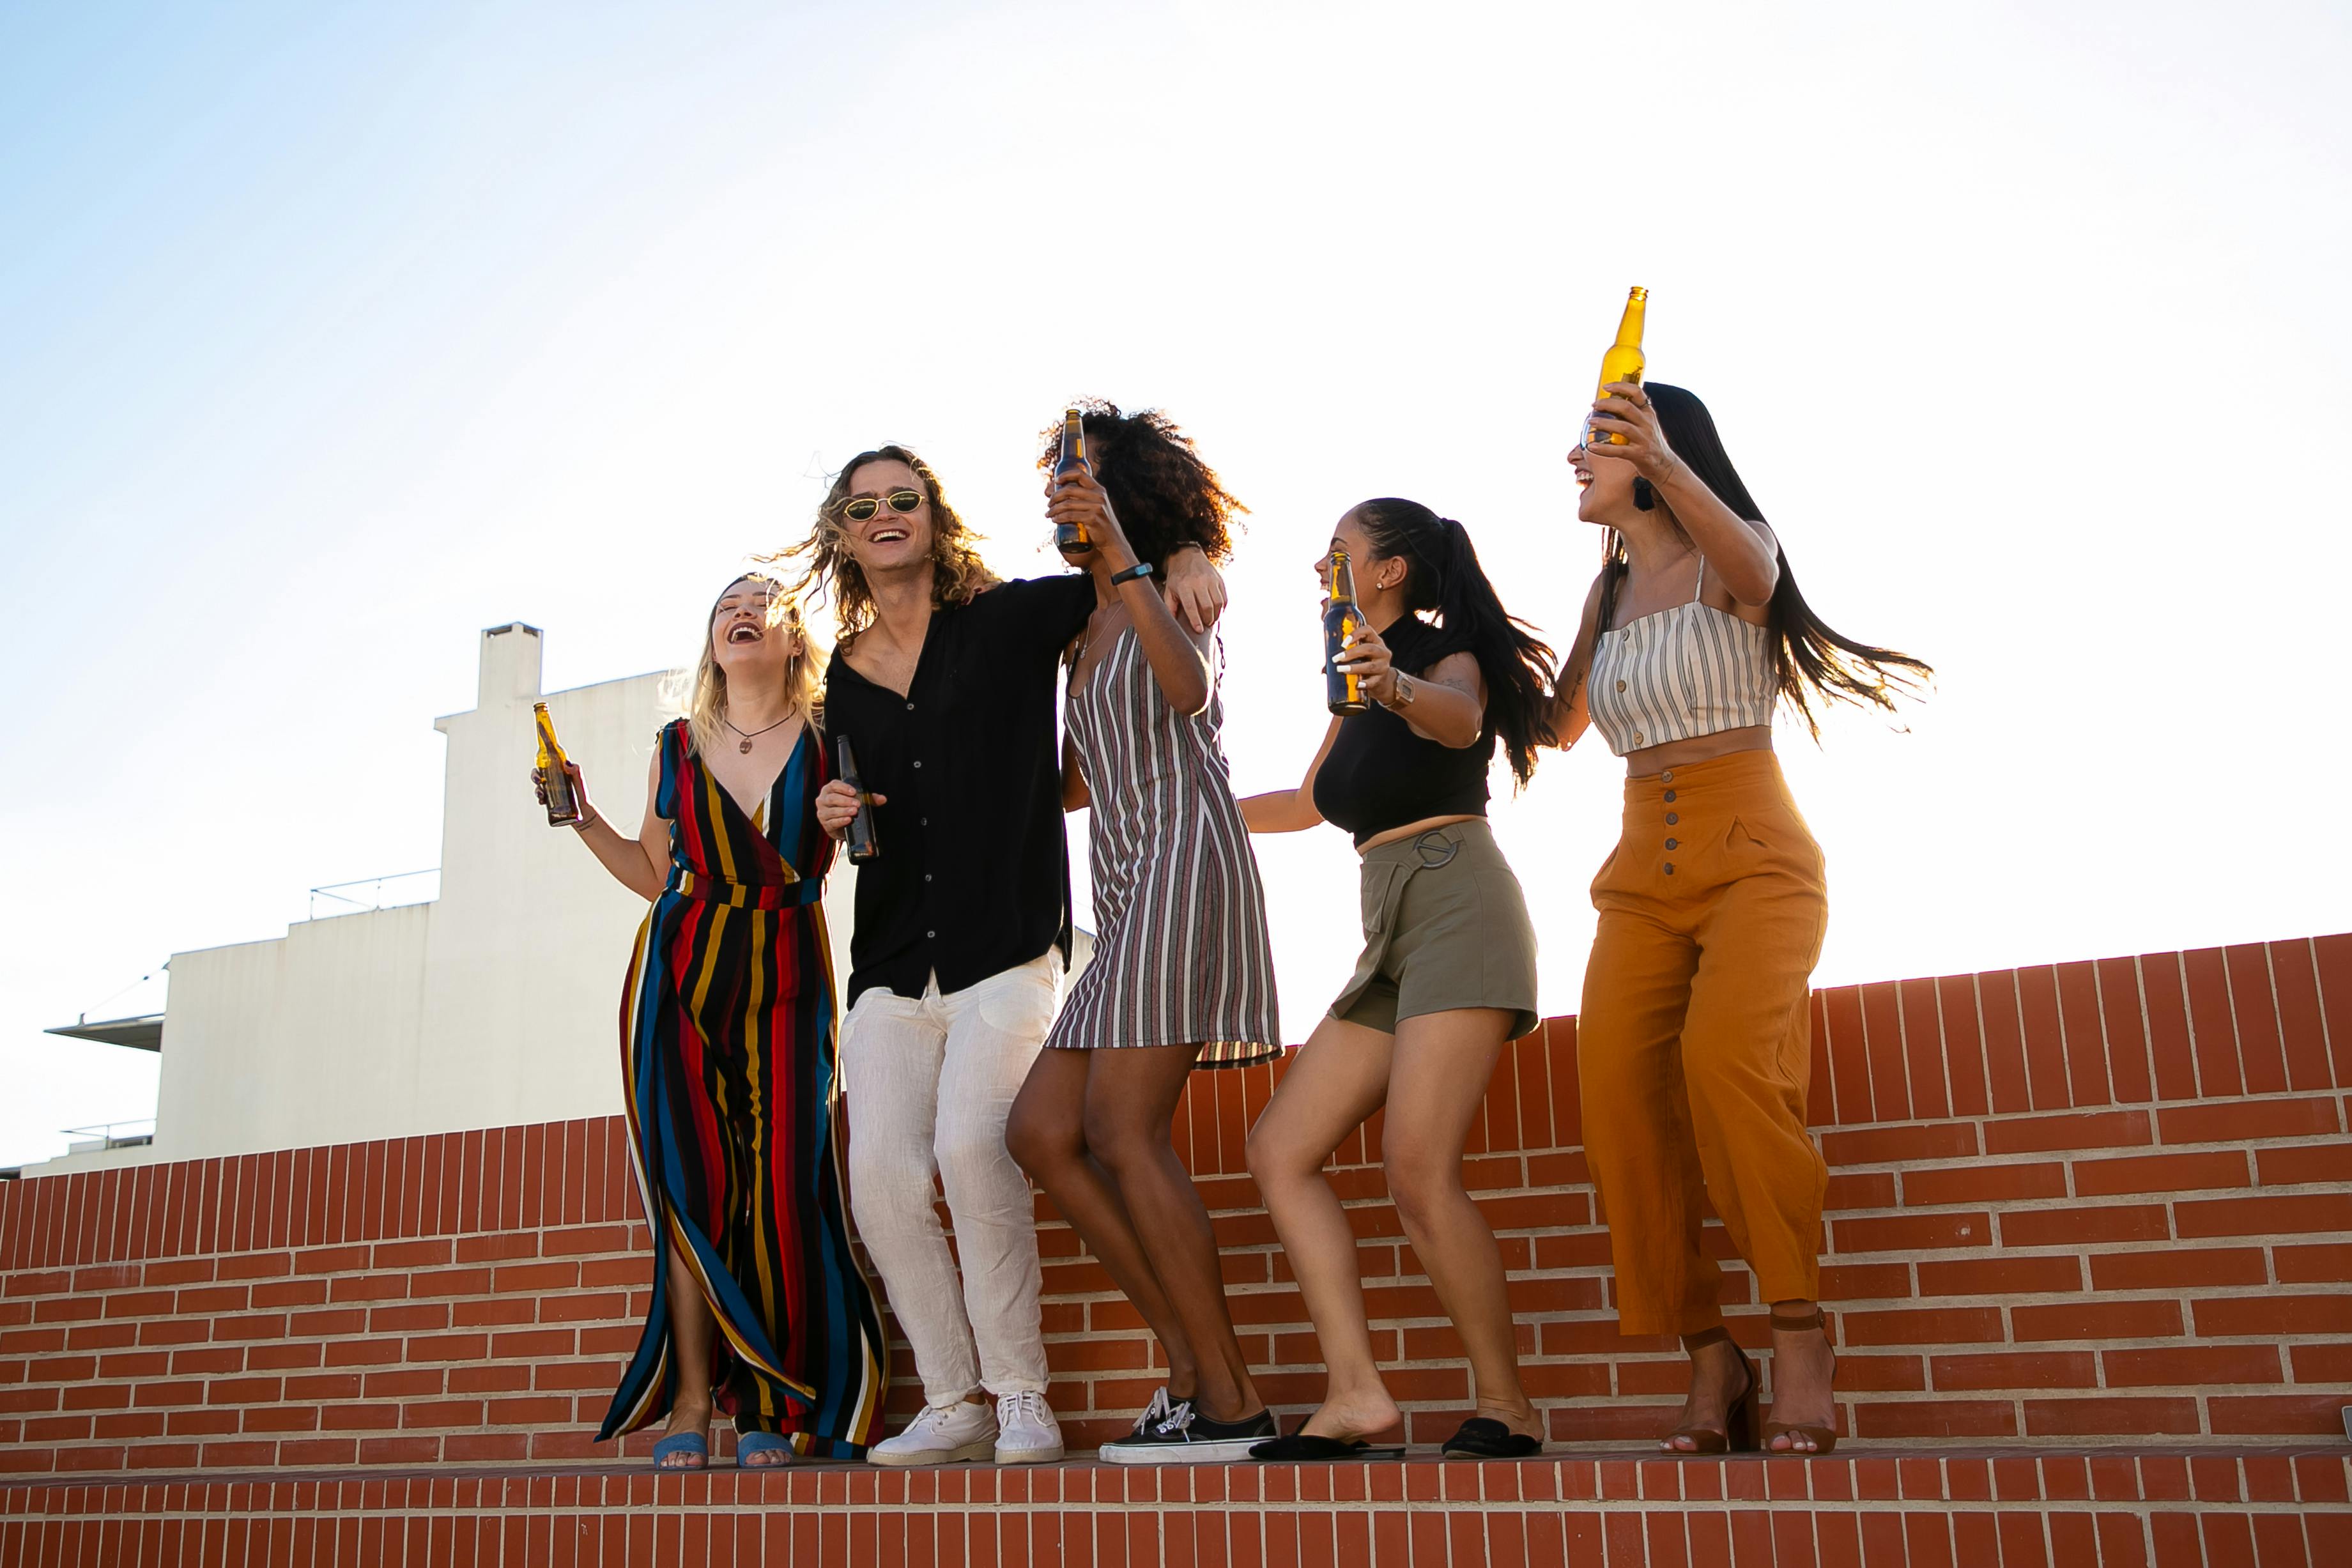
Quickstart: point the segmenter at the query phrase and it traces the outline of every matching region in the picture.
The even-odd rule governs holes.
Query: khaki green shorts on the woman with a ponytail
[[[1364,957],[1331,1004],[1383,1034],[1399,1018],[1498,1006],[1534,1032],[1536,926],[1484,818],[1364,851]]]

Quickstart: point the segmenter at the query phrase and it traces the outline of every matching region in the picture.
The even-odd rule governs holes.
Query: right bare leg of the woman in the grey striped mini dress
[[[1117,1182],[1120,1220],[1138,1251],[1150,1237],[1150,1269],[1167,1293],[1195,1363],[1195,1408],[1209,1420],[1244,1420],[1265,1408],[1249,1361],[1232,1338],[1216,1232],[1192,1173],[1169,1140],[1176,1100],[1200,1046],[1094,1051],[1087,1067],[1087,1147]],[[1091,1237],[1089,1237],[1091,1244]]]

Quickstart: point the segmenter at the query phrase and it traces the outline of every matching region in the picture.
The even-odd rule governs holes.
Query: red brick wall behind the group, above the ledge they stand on
[[[1178,1150],[1287,1408],[1315,1342],[1242,1173],[1272,1070],[1195,1079]],[[1825,1295],[1846,1425],[1910,1441],[2338,1432],[2352,1403],[2352,936],[1816,997]],[[1573,1023],[1508,1053],[1470,1178],[1552,1436],[1646,1436],[1670,1342],[1621,1340],[1578,1152]],[[1390,1385],[1435,1441],[1468,1380],[1378,1173],[1341,1150]],[[616,1119],[0,1185],[0,1469],[579,1460],[647,1300]],[[1049,1213],[1054,1403],[1155,1387]],[[1719,1232],[1712,1232],[1719,1237]],[[1733,1265],[1726,1295],[1748,1302]],[[1748,1342],[1757,1319],[1736,1324]],[[894,1406],[915,1403],[898,1366]],[[635,1453],[642,1439],[630,1446]]]

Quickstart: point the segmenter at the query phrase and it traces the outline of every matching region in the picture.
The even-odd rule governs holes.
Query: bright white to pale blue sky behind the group
[[[1364,496],[1564,644],[1630,282],[1816,609],[1943,672],[1910,733],[1783,738],[1823,983],[2345,929],[2347,45],[2145,0],[0,9],[0,1164],[153,1114],[153,1058],[42,1025],[437,860],[480,628],[543,625],[550,686],[677,663],[877,440],[1033,574],[1035,433],[1169,409],[1254,508],[1244,792],[1322,726],[1308,562]],[[1496,813],[1552,1013],[1618,773]],[[1303,1037],[1352,856],[1258,844]]]

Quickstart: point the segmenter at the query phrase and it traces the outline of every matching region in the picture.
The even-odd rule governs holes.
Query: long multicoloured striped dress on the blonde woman
[[[670,884],[637,931],[621,992],[654,1295],[597,1439],[670,1410],[675,1251],[717,1319],[710,1392],[736,1432],[858,1460],[882,1436],[889,1349],[842,1201],[833,950],[818,903],[833,839],[814,809],[826,748],[802,731],[746,816],[684,719],[659,745]]]

